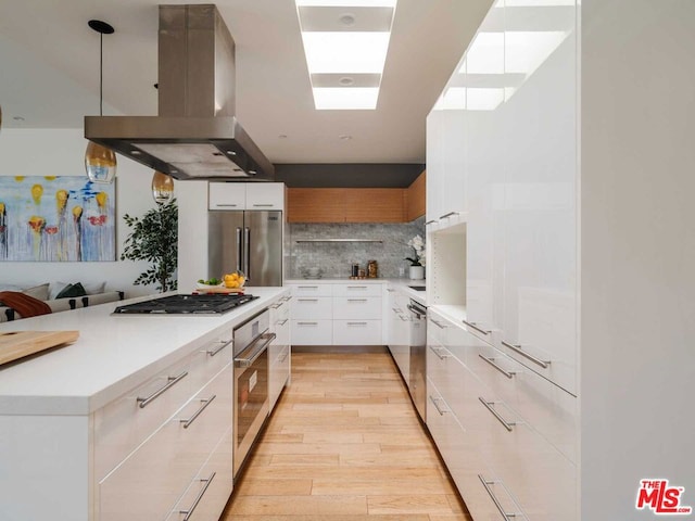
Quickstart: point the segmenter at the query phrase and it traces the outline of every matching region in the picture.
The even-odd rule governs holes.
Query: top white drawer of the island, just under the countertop
[[[228,335],[231,340],[231,331]],[[111,471],[231,361],[231,344],[220,342],[203,344],[193,354],[94,412],[97,479]]]

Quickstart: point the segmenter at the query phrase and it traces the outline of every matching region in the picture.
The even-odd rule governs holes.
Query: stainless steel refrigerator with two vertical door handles
[[[282,285],[282,212],[210,211],[207,277],[243,271],[247,285]]]

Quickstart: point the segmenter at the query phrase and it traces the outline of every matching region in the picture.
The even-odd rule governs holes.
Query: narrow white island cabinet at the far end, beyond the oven
[[[268,346],[268,398],[270,410],[290,380],[290,295],[283,295],[270,306],[270,330],[276,339]]]

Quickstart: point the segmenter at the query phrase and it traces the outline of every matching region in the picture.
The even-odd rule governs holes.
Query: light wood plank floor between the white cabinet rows
[[[220,521],[472,521],[387,353],[293,353]]]

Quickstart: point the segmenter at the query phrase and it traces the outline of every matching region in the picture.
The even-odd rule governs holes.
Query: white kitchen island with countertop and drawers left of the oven
[[[258,298],[216,316],[113,315],[104,304],[0,326],[79,331],[0,368],[0,520],[182,519],[202,495],[190,519],[224,506],[231,331],[288,290],[248,293]],[[138,511],[124,518],[128,505]]]

